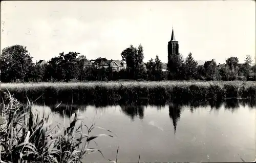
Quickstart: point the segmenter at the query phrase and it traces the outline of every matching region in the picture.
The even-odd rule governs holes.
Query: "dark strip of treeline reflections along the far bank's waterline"
[[[36,100],[35,104],[38,105],[46,105],[50,106],[51,110],[53,112],[57,112],[60,114],[61,117],[67,116],[70,117],[72,113],[75,112],[78,108],[80,110],[84,110],[87,105],[94,105],[96,109],[104,109],[108,108],[108,106],[113,106],[113,105],[120,105],[122,108],[122,112],[125,113],[126,115],[129,115],[129,117],[132,118],[132,120],[138,116],[140,119],[143,119],[144,117],[144,107],[147,105],[151,105],[153,107],[156,107],[156,109],[161,109],[161,107],[164,107],[166,104],[165,103],[154,103],[153,101],[149,101],[148,99],[140,99],[137,100],[136,102],[133,101],[125,101],[125,100],[100,100],[100,101],[90,101],[84,103],[83,101],[81,102],[76,102],[73,103],[71,107],[71,103],[59,105],[56,109],[55,107],[60,103],[61,101],[56,101],[56,99],[42,99],[39,98]],[[67,103],[67,102],[66,102]],[[174,105],[175,104],[175,105]],[[255,109],[256,104],[255,104],[255,99],[226,99],[225,101],[214,101],[214,100],[208,100],[208,101],[173,101],[170,104],[170,107],[178,107],[178,106],[187,106],[190,109],[191,113],[194,113],[194,111],[199,108],[199,107],[207,107],[210,106],[211,110],[215,109],[218,110],[221,106],[224,106],[225,109],[234,111],[238,109],[240,106],[243,107],[249,107],[250,109]],[[169,107],[169,108],[170,108]],[[63,111],[66,113],[63,113]],[[170,114],[172,115],[172,114]],[[174,117],[175,118],[175,117]],[[174,123],[175,124],[175,123]],[[176,127],[176,126],[175,126]]]

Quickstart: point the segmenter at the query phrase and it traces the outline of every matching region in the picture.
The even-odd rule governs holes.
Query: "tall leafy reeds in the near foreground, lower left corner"
[[[91,135],[95,128],[103,128],[79,123],[79,110],[72,114],[69,127],[59,127],[52,126],[49,115],[40,117],[33,113],[30,101],[27,105],[15,104],[10,94],[9,100],[2,105],[1,162],[81,162],[90,153],[101,153],[98,149],[89,148],[90,142],[101,136],[113,137],[110,134]]]

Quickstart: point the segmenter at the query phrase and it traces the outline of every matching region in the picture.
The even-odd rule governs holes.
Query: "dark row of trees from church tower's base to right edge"
[[[169,80],[255,80],[255,64],[251,64],[252,59],[247,55],[243,64],[239,64],[237,57],[229,57],[223,65],[217,65],[214,59],[198,65],[189,53],[185,61],[180,54],[170,56],[167,66]]]

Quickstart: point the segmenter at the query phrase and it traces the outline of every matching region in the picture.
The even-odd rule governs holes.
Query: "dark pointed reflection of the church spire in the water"
[[[169,104],[169,117],[173,121],[174,133],[176,133],[177,122],[180,120],[181,105],[177,103]]]

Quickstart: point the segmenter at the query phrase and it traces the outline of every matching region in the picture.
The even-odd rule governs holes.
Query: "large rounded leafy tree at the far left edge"
[[[32,57],[23,45],[8,46],[1,55],[1,77],[7,81],[25,81],[32,76]]]

